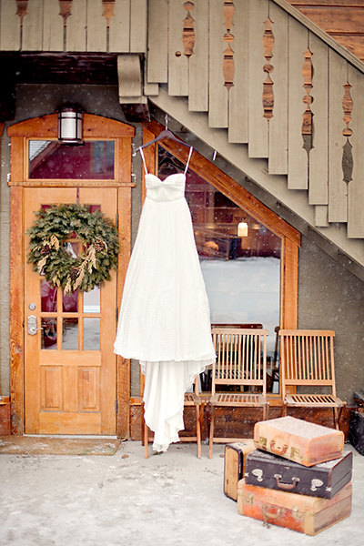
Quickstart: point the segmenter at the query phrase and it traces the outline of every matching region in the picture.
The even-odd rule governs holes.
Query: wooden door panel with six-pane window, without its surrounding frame
[[[34,211],[76,203],[77,197],[116,222],[116,191],[26,187],[25,231],[35,220]],[[82,252],[73,237],[65,244],[75,254]],[[26,263],[28,243],[25,238],[25,432],[113,435],[116,273],[101,288],[66,295]]]

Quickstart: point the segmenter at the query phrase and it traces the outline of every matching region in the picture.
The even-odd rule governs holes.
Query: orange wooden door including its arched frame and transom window
[[[63,147],[58,141],[57,114],[28,119],[7,130],[13,434],[129,435],[130,363],[116,357],[113,349],[116,306],[130,257],[135,129],[92,114],[84,114],[83,122],[80,147]],[[76,202],[112,219],[120,250],[111,281],[65,297],[61,288],[53,288],[27,263],[25,232],[41,207]],[[82,251],[76,234],[64,244],[71,255]]]

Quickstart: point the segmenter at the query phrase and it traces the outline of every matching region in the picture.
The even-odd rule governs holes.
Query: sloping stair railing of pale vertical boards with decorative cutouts
[[[284,0],[149,0],[147,80],[364,238],[364,65]],[[167,35],[170,36],[167,42]],[[161,36],[165,42],[161,43]]]

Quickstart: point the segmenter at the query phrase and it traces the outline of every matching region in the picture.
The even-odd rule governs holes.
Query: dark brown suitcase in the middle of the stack
[[[304,467],[278,455],[255,450],[247,456],[244,477],[249,485],[332,499],[349,483],[351,473],[351,451],[339,459]]]

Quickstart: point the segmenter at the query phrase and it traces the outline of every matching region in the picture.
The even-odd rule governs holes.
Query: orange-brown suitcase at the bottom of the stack
[[[238,482],[238,513],[308,535],[318,534],[351,513],[352,488],[348,483],[332,499],[308,497]]]

